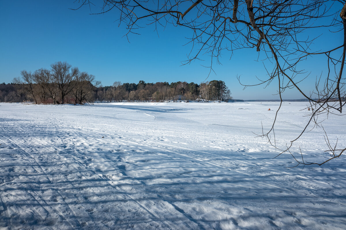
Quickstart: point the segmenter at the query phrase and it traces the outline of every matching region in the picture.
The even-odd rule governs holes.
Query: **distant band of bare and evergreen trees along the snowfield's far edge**
[[[228,101],[230,90],[224,81],[121,83],[102,86],[95,76],[81,72],[67,62],[55,62],[51,69],[31,73],[21,71],[21,77],[0,84],[0,102],[32,101],[36,104],[83,104],[86,102],[164,102],[182,100]],[[179,96],[180,95],[180,96]]]

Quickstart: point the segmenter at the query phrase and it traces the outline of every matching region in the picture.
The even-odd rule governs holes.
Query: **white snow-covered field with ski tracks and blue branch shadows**
[[[278,144],[305,105],[283,104]],[[286,168],[290,154],[254,138],[278,106],[0,103],[0,229],[346,229],[345,157]],[[343,144],[345,126],[325,125]],[[319,156],[319,133],[293,153]]]

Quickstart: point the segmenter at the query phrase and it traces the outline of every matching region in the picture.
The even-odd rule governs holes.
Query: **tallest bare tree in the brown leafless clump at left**
[[[64,104],[66,95],[72,91],[73,81],[79,74],[77,67],[71,67],[69,63],[61,61],[51,64],[51,75],[59,89],[60,102],[57,102],[61,104]]]

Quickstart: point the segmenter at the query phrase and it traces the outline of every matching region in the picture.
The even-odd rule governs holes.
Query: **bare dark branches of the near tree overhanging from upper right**
[[[321,127],[319,115],[342,114],[346,103],[345,77],[343,68],[346,53],[346,3],[345,0],[80,0],[82,7],[90,9],[101,7],[102,14],[117,11],[120,23],[125,23],[129,33],[137,33],[138,28],[152,24],[190,28],[192,36],[189,43],[192,50],[186,63],[199,60],[208,54],[210,72],[213,63],[219,63],[222,51],[233,51],[243,48],[255,48],[259,60],[265,63],[267,78],[251,85],[268,84],[276,81],[277,94],[282,103],[282,92],[289,88],[297,89],[302,98],[314,107],[309,114],[310,119],[297,138],[290,140],[282,152],[289,152],[292,144],[301,138],[313,123]],[[80,8],[79,7],[79,8]],[[335,32],[334,36],[342,36],[343,43],[321,50],[313,48],[315,38],[306,36],[310,29],[327,28]],[[328,41],[326,41],[328,43]],[[333,46],[333,44],[329,44]],[[323,49],[323,48],[322,48]],[[309,57],[321,55],[326,57],[327,73],[322,73],[316,82],[313,92],[305,92],[299,87],[299,82],[306,78],[309,71],[299,69],[303,61]],[[249,60],[244,60],[248,62]],[[251,67],[251,63],[248,64]],[[321,70],[323,67],[321,67]],[[244,86],[248,86],[244,84]],[[281,104],[280,104],[281,108]],[[279,108],[279,110],[280,110]],[[279,111],[278,110],[278,111]],[[278,113],[276,113],[277,116]],[[276,147],[274,136],[276,117],[272,127],[260,134]],[[327,136],[327,133],[326,133]],[[298,164],[323,164],[337,158],[345,152],[344,147],[328,144],[326,151],[331,155],[328,159],[317,159],[316,162],[306,162],[294,159]],[[330,140],[329,140],[330,142]],[[332,147],[334,146],[334,147]],[[319,161],[320,160],[320,161]]]

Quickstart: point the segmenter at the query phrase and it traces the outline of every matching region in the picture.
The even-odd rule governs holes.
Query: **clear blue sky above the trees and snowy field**
[[[159,29],[141,29],[141,35],[131,35],[130,43],[125,37],[124,27],[118,27],[117,15],[109,12],[89,15],[88,7],[73,11],[78,3],[73,0],[18,0],[0,1],[0,82],[9,83],[20,76],[21,70],[35,71],[49,68],[56,61],[67,61],[81,71],[94,74],[103,86],[114,81],[145,82],[187,81],[201,83],[208,77],[209,69],[193,62],[181,66],[190,48],[183,46],[191,31],[169,26]],[[336,38],[332,43],[342,43]],[[321,43],[321,50],[324,50]],[[255,50],[242,50],[229,60],[230,53],[224,52],[222,65],[215,65],[215,74],[207,80],[222,80],[235,99],[278,99],[276,82],[272,86],[249,87],[243,90],[236,76],[248,82],[256,77],[264,78],[262,62],[248,61],[257,58]],[[319,59],[309,63],[306,70],[312,75],[301,85],[309,90],[319,72],[313,72]],[[312,80],[312,81],[311,81]],[[286,99],[299,99],[294,90],[284,94]]]

